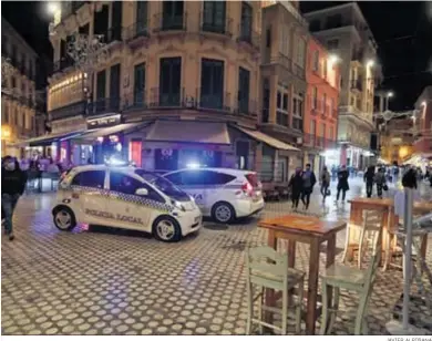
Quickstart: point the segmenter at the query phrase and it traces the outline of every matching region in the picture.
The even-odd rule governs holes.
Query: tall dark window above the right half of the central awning
[[[224,62],[202,59],[200,62],[200,106],[224,107]]]

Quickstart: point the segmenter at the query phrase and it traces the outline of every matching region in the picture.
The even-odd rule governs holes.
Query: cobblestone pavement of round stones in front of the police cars
[[[350,196],[362,190],[351,188]],[[22,198],[14,217],[17,238],[2,238],[3,334],[245,333],[244,252],[266,242],[256,218],[228,228],[207,223],[197,236],[164,244],[109,229],[59,231],[51,221],[52,198]],[[288,207],[269,203],[261,217],[282,215]],[[310,211],[346,218],[349,204],[322,206],[316,196]],[[340,250],[343,240],[340,232]],[[308,247],[298,245],[297,255],[296,267],[307,270]],[[432,266],[431,247],[428,261]],[[400,271],[379,272],[367,317],[371,334],[387,333],[401,291]],[[342,292],[337,334],[351,333],[347,311],[356,307],[357,297]]]

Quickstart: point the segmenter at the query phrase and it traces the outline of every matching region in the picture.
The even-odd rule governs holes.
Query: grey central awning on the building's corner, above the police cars
[[[146,141],[230,144],[225,123],[156,121]]]

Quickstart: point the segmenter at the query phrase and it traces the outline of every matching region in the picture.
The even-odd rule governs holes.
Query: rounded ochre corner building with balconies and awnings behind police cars
[[[45,143],[58,158],[120,153],[160,172],[188,163],[261,172],[263,151],[275,151],[272,163],[296,153],[257,131],[260,2],[62,2],[54,20]],[[75,32],[102,34],[107,60],[74,68]]]

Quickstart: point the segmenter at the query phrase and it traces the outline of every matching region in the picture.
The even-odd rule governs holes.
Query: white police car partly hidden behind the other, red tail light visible
[[[228,224],[264,209],[261,183],[255,172],[186,168],[163,175],[194,197],[206,217]]]

